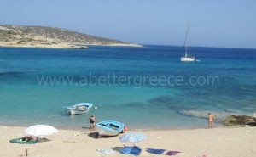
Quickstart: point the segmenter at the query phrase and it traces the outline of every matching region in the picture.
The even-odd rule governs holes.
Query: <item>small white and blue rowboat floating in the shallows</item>
[[[89,110],[92,108],[93,104],[91,103],[80,103],[75,104],[71,107],[67,108],[67,113],[69,115],[79,115],[89,112]]]

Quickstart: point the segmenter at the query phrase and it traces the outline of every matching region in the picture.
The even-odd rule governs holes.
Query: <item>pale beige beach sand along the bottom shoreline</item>
[[[59,130],[57,134],[48,136],[50,141],[36,143],[34,145],[9,143],[12,138],[25,136],[25,127],[0,126],[0,156],[17,157],[25,156],[28,148],[29,156],[32,157],[118,157],[131,156],[127,154],[104,155],[96,149],[119,150],[125,145],[119,137],[95,138],[95,131]],[[129,131],[131,132],[131,131]],[[143,149],[142,157],[166,156],[165,154],[149,154],[146,148],[158,148],[177,150],[182,153],[177,157],[253,157],[256,154],[256,127],[228,127],[192,130],[166,130],[166,131],[137,131],[143,132],[148,138],[135,143]],[[95,137],[93,137],[95,136]],[[166,152],[165,152],[166,153]]]

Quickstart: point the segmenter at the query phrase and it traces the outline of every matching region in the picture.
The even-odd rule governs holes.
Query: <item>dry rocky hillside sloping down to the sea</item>
[[[0,25],[0,46],[77,48],[83,45],[138,46],[127,42],[90,36],[76,31],[23,25]]]

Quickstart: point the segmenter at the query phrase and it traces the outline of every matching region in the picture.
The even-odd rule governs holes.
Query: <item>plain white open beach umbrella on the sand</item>
[[[34,137],[38,136],[46,136],[51,135],[53,133],[57,133],[58,130],[55,129],[53,126],[47,126],[47,125],[35,125],[35,126],[29,126],[25,129],[26,135],[31,135]]]

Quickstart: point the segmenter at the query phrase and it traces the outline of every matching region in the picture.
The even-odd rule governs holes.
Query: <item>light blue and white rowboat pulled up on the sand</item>
[[[108,136],[113,137],[123,132],[125,125],[119,121],[102,121],[96,123],[96,132],[99,133],[98,137]]]

